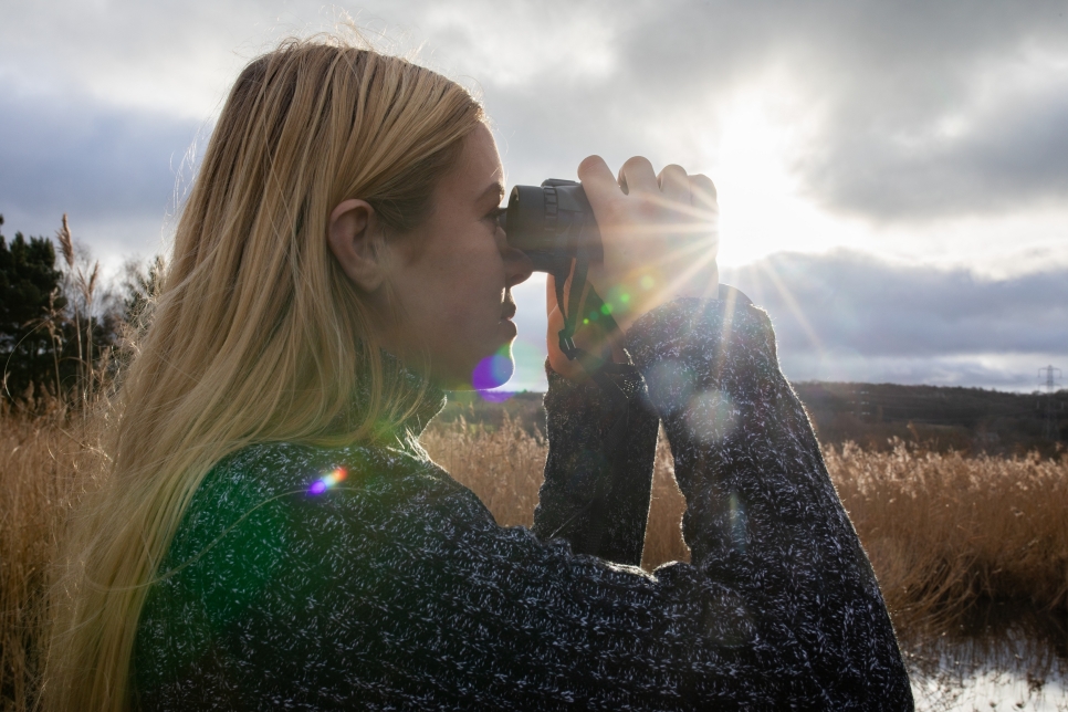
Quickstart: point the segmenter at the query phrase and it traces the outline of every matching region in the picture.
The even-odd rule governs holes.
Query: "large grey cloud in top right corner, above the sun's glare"
[[[1068,3],[744,7],[680,25],[722,28],[710,73],[724,52],[743,75],[792,67],[818,115],[795,170],[825,207],[918,221],[1068,197]]]

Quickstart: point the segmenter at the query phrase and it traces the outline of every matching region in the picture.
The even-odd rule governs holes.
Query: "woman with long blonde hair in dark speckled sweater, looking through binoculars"
[[[72,537],[83,573],[57,608],[46,704],[911,709],[766,315],[688,296],[715,283],[713,261],[641,286],[651,268],[682,276],[660,256],[680,234],[712,239],[711,182],[643,159],[617,182],[596,157],[579,177],[605,242],[590,280],[632,292],[612,353],[650,404],[628,422],[617,475],[632,486],[614,491],[604,557],[568,538],[616,413],[553,338],[533,532],[496,526],[417,441],[442,389],[511,343],[509,291],[530,275],[498,226],[481,107],[335,43],[252,62],[123,384],[111,477]],[[650,576],[621,564],[640,558],[659,419],[693,564]]]

